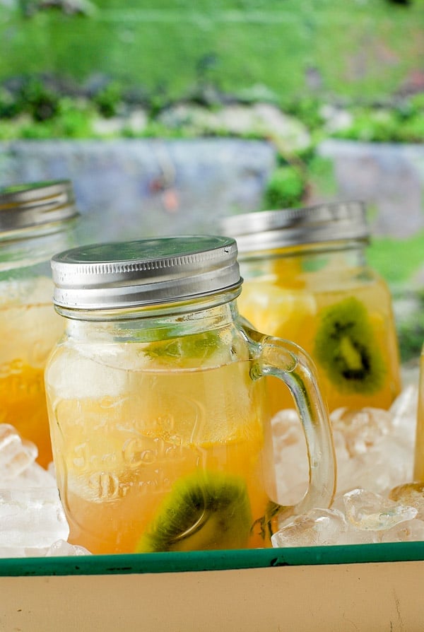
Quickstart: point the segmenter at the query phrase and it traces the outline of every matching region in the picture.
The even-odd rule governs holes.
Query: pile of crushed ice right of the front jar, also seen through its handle
[[[281,525],[273,546],[424,540],[424,484],[413,481],[417,410],[418,387],[408,385],[389,411],[333,411],[334,503]],[[293,410],[280,411],[272,423],[278,502],[295,504],[308,479],[302,427]]]

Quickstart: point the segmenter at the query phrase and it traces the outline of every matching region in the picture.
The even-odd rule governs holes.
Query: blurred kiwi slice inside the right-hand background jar
[[[314,358],[341,392],[372,394],[382,387],[384,360],[360,300],[345,298],[322,310]]]

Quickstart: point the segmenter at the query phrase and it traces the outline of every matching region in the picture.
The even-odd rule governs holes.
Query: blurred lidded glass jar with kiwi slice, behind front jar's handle
[[[247,213],[225,219],[237,240],[243,316],[290,339],[317,365],[330,411],[388,409],[401,390],[387,283],[366,260],[370,230],[357,201]],[[270,380],[271,411],[291,406]]]

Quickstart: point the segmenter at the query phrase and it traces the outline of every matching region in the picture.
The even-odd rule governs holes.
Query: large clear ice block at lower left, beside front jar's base
[[[42,549],[67,540],[56,488],[0,489],[0,547]]]

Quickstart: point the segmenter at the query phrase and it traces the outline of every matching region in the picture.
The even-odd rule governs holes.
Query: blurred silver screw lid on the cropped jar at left
[[[0,189],[0,233],[78,216],[70,180],[30,182]]]

